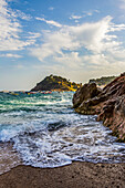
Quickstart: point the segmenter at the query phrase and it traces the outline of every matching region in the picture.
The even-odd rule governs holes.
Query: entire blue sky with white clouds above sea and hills
[[[0,90],[125,71],[125,0],[0,0]]]

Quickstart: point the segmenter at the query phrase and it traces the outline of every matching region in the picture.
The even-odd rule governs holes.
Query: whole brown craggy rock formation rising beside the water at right
[[[103,121],[118,140],[125,142],[125,73],[103,90],[95,83],[83,85],[73,96],[73,107],[80,114],[97,114],[97,121]]]

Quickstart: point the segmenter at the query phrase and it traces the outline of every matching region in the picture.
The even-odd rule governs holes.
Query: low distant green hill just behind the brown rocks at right
[[[116,76],[103,76],[101,79],[92,79],[88,83],[96,83],[98,86],[106,85],[112,82]]]

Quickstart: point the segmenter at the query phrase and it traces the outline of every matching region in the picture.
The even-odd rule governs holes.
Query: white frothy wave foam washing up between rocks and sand
[[[101,127],[94,127],[96,135],[92,130],[84,132],[83,125],[15,137],[14,147],[25,165],[35,167],[58,167],[71,164],[72,160],[125,161],[124,153],[119,153],[119,148],[125,145],[112,144],[112,139],[108,142],[105,137],[106,129],[104,133]]]

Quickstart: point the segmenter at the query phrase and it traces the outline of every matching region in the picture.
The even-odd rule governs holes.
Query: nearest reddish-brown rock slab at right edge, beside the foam
[[[103,121],[103,124],[113,130],[113,135],[117,136],[118,140],[125,142],[125,95],[108,100],[97,121]]]

